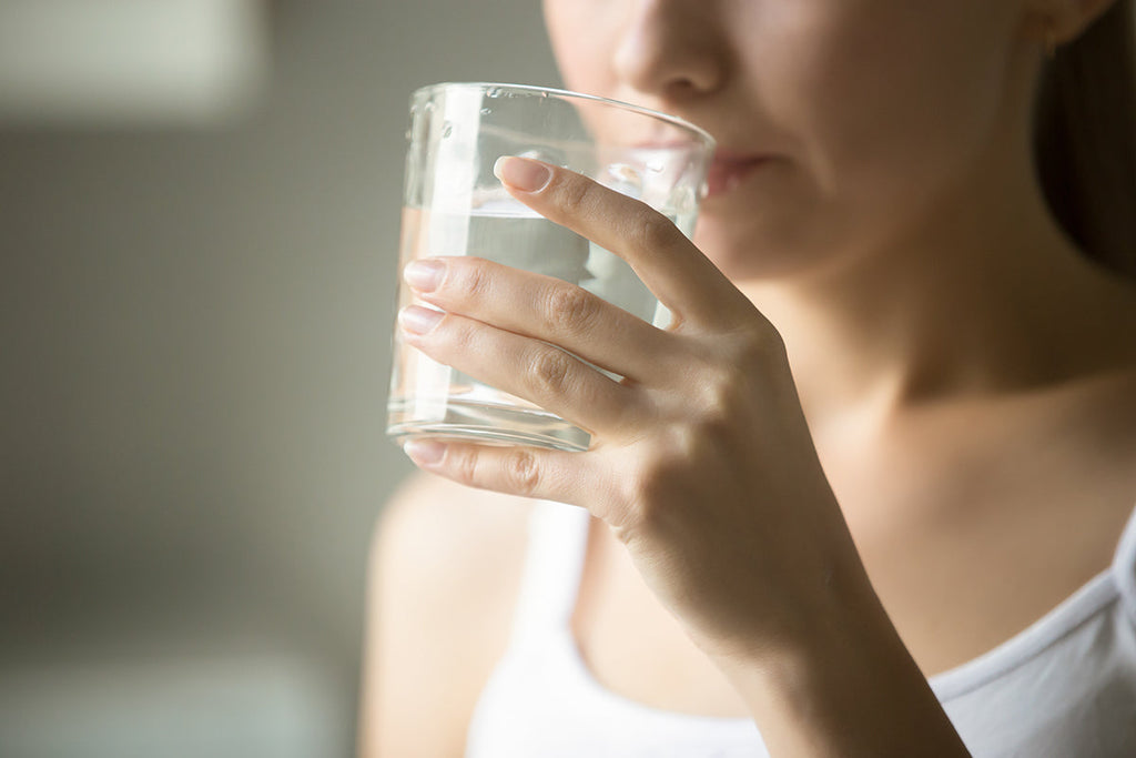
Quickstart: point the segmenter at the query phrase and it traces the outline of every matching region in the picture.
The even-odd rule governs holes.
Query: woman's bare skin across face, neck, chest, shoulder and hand
[[[1071,40],[1106,7],[545,2],[569,88],[675,113],[770,160],[705,201],[694,243],[577,175],[499,166],[520,201],[627,259],[676,314],[667,331],[477,259],[408,276],[444,311],[403,311],[408,342],[594,444],[407,445],[423,469],[503,495],[419,481],[393,507],[368,692],[401,698],[417,681],[432,724],[431,686],[467,694],[436,740],[393,716],[412,703],[374,695],[391,726],[365,728],[364,753],[460,753],[508,633],[515,588],[494,580],[517,569],[517,498],[536,497],[605,525],[574,631],[613,689],[660,689],[642,684],[634,650],[661,628],[652,652],[677,673],[657,705],[696,707],[680,693],[698,692],[754,718],[775,756],[966,755],[925,676],[1106,566],[1136,497],[1136,295],[1060,233],[1028,151],[1043,32]],[[408,543],[450,555],[445,524],[477,528],[460,507],[438,518],[426,503],[440,499],[492,526],[453,540],[478,555],[416,578]],[[484,582],[445,578],[470,566]],[[451,618],[484,613],[465,640],[432,640],[441,670],[423,684],[412,630],[440,626],[446,603]]]

